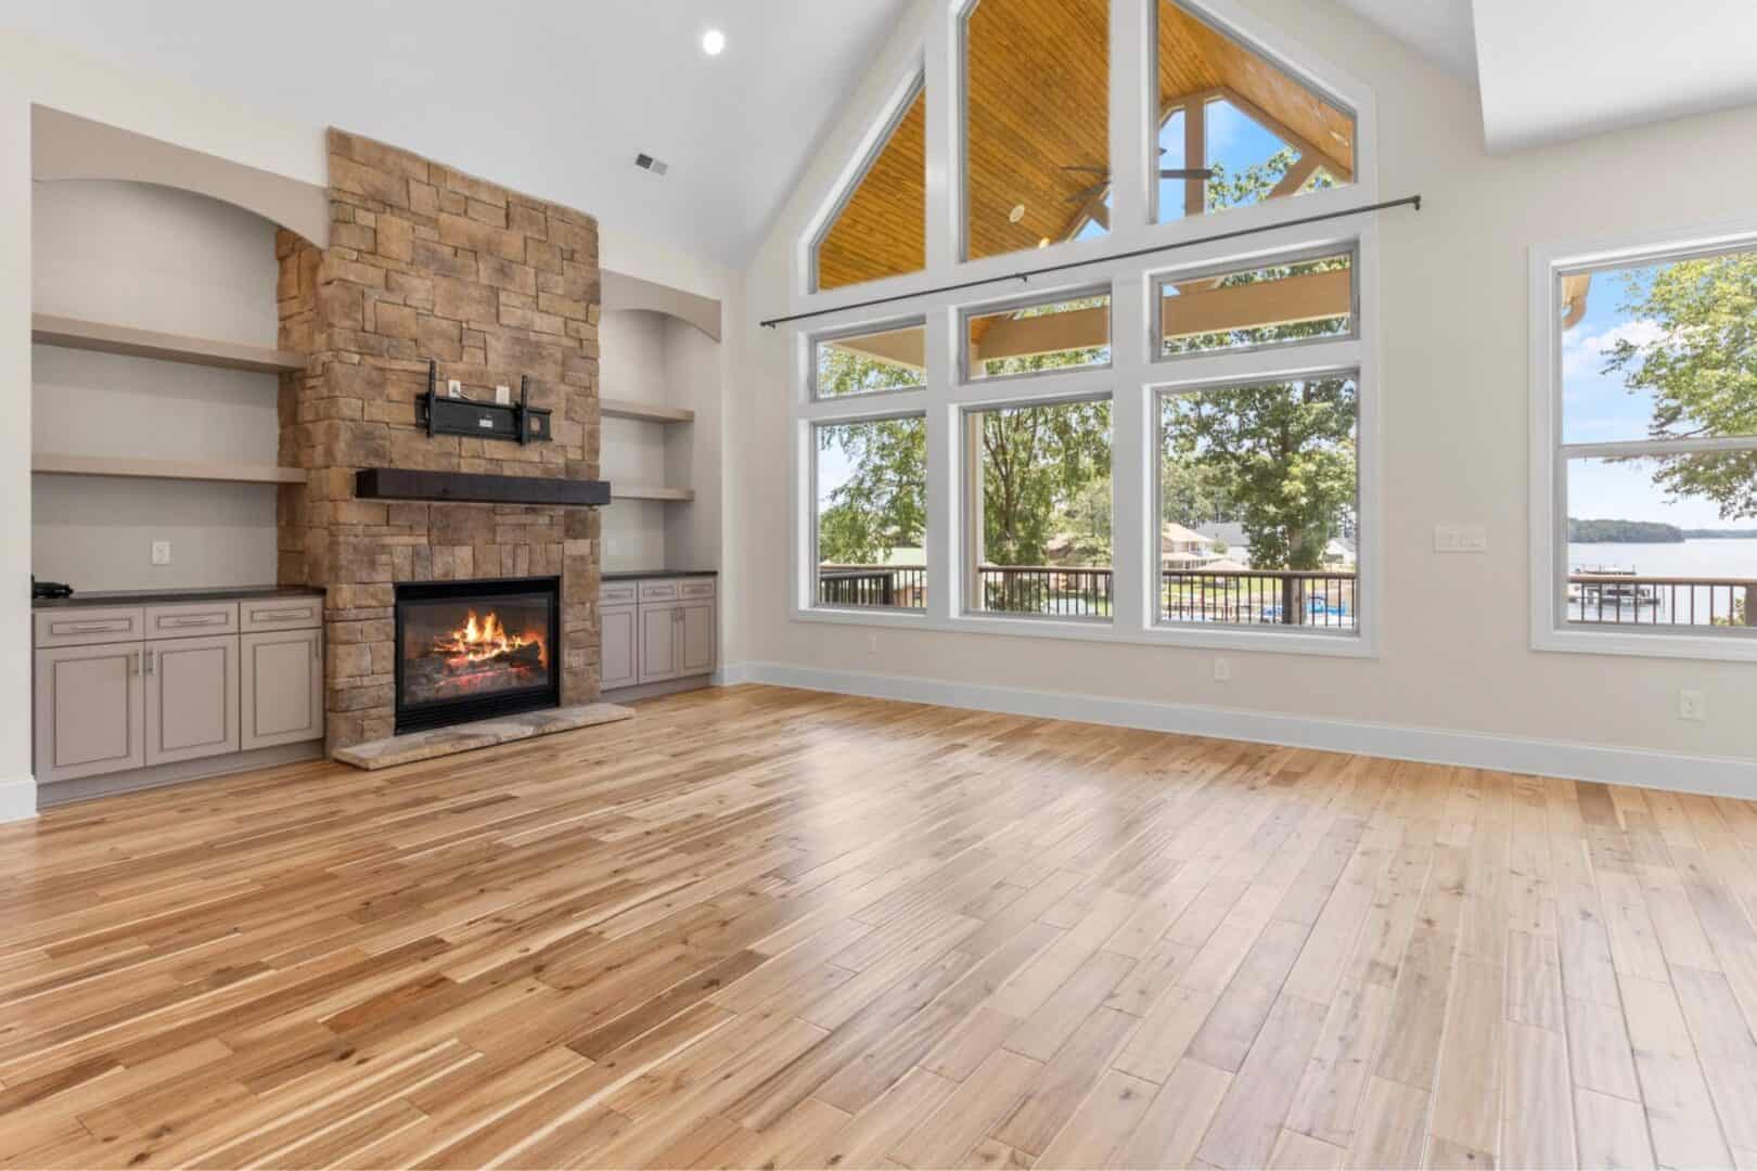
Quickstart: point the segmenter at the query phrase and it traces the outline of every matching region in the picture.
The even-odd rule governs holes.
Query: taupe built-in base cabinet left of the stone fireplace
[[[323,737],[322,599],[35,614],[40,785]]]

